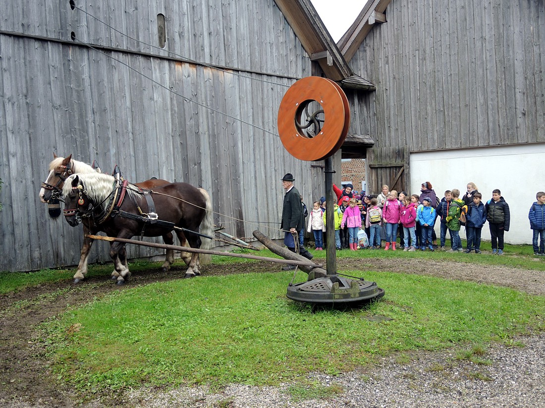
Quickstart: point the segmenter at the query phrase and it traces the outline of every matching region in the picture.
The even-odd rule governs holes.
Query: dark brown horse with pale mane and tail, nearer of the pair
[[[72,175],[66,179],[63,187],[63,212],[66,221],[73,227],[81,219],[90,218],[95,224],[100,224],[101,230],[108,236],[118,238],[135,235],[158,237],[175,230],[180,242],[185,235],[191,248],[200,248],[198,230],[201,222],[204,235],[211,236],[213,233],[211,200],[205,190],[187,183],[171,183],[154,187],[149,194],[156,209],[156,214],[153,213],[155,218],[144,211],[150,212],[148,200],[134,184],[118,187],[116,178],[106,174]],[[182,230],[185,234],[180,237]],[[211,240],[204,239],[204,244],[210,248]],[[130,276],[125,244],[112,242],[110,256],[119,274],[117,283],[123,285]],[[198,254],[192,254],[185,277],[198,275],[198,267]]]

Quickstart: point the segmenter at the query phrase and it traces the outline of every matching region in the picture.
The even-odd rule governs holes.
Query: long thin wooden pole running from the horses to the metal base
[[[257,255],[246,255],[246,254],[232,254],[231,252],[220,252],[220,251],[211,251],[208,249],[200,249],[200,248],[190,248],[189,246],[178,246],[178,245],[167,245],[167,244],[157,244],[155,242],[146,242],[146,241],[139,241],[137,239],[126,239],[126,238],[116,238],[116,237],[103,237],[101,235],[86,235],[86,237],[91,239],[99,239],[102,241],[108,241],[108,242],[123,242],[125,244],[135,244],[135,245],[142,245],[142,246],[151,246],[152,248],[161,248],[161,249],[172,249],[174,251],[182,251],[182,252],[194,252],[195,254],[210,254],[210,255],[219,255],[219,256],[233,256],[235,258],[247,258],[247,259],[256,259],[257,261],[270,261],[270,262],[276,262],[276,263],[283,263],[283,264],[292,264],[292,265],[298,265],[301,270],[304,270],[308,273],[308,271],[320,269],[323,267],[323,264],[321,263],[312,263],[306,258],[303,258],[302,256],[299,256],[301,259],[277,259],[277,258],[268,258],[264,256],[257,256]],[[273,251],[274,252],[274,251]],[[290,251],[288,251],[290,252]],[[275,252],[276,254],[276,252]],[[290,254],[293,254],[293,252],[290,252]],[[277,254],[280,255],[280,254]],[[293,254],[296,255],[296,254]],[[282,255],[280,255],[282,256]],[[308,271],[307,271],[308,270]]]

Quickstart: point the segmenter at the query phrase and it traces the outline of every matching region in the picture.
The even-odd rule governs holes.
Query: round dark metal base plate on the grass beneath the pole
[[[384,289],[376,282],[328,275],[288,286],[289,299],[313,304],[348,304],[379,299]]]

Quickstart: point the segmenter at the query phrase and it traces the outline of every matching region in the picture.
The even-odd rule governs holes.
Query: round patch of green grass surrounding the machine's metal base
[[[74,308],[44,334],[54,373],[86,391],[274,385],[391,353],[481,345],[545,328],[545,297],[508,288],[369,271],[366,279],[386,291],[383,301],[316,312],[286,298],[292,275],[154,283]],[[391,320],[368,319],[375,315]],[[477,346],[471,350],[481,358]]]

